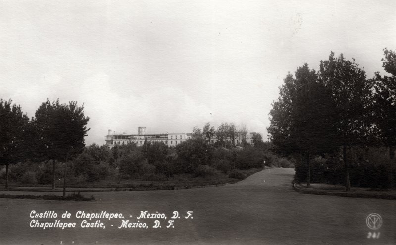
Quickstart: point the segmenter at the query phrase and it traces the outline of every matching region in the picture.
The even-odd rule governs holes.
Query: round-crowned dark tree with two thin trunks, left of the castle
[[[84,137],[89,131],[86,127],[89,120],[84,115],[84,106],[78,106],[77,102],[60,104],[58,99],[51,104],[47,99],[37,109],[35,119],[42,142],[41,151],[48,159],[63,161],[67,166],[68,160],[81,153],[85,146]],[[53,173],[54,167],[53,161]],[[66,167],[63,196],[66,195],[65,184]]]

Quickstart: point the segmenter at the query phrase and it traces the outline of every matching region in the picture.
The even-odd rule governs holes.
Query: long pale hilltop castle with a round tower
[[[253,143],[252,142],[253,134],[254,132],[247,133],[246,135],[247,143],[249,144]],[[147,142],[149,143],[161,142],[169,147],[174,147],[188,139],[192,139],[192,134],[191,133],[146,134],[146,127],[138,127],[138,134],[127,134],[126,132],[122,134],[116,134],[115,132],[111,132],[111,129],[109,129],[108,134],[106,136],[106,146],[112,148],[115,145],[125,145],[131,143],[135,143],[137,146],[142,146],[145,143],[146,139]],[[231,140],[227,139],[226,141],[230,142]],[[211,144],[214,144],[215,142],[217,142],[216,136],[210,139]],[[242,142],[241,137],[235,138],[236,145],[241,142]]]

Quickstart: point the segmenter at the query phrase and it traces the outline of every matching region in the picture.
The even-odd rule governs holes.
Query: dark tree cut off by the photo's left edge
[[[21,107],[12,104],[12,100],[0,98],[0,164],[6,165],[5,188],[8,189],[9,164],[27,158],[26,140],[29,118],[23,114]]]

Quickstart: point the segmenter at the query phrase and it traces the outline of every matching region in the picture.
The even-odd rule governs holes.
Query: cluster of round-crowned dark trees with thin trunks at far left
[[[8,188],[10,164],[27,163],[28,166],[50,161],[54,188],[55,162],[67,165],[70,159],[83,151],[89,119],[84,115],[84,107],[78,106],[75,101],[61,104],[59,99],[52,103],[47,99],[37,109],[35,116],[29,119],[20,106],[12,104],[12,100],[0,99],[0,164],[5,165],[6,169],[5,187]],[[27,171],[27,168],[21,171],[25,180],[32,173]]]

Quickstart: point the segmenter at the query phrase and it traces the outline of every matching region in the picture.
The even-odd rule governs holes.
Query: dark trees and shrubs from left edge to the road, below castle
[[[131,143],[109,149],[97,144],[84,146],[89,118],[76,102],[47,100],[29,119],[20,106],[1,100],[0,116],[0,163],[5,165],[1,177],[7,188],[9,180],[55,188],[60,182],[84,186],[102,180],[118,184],[122,180],[165,181],[177,174],[215,178],[221,173],[244,179],[242,170],[262,168],[264,160],[267,166],[293,166],[273,155],[272,144],[262,142],[258,133],[253,136],[254,144],[248,144],[246,127],[237,130],[233,123],[222,123],[217,130],[209,123],[203,129],[195,127],[193,138],[176,147],[145,140],[140,147]],[[218,143],[211,143],[213,137]],[[235,144],[237,137],[244,140]]]

